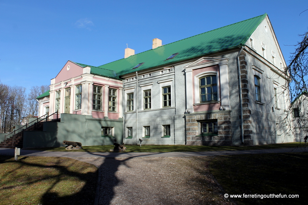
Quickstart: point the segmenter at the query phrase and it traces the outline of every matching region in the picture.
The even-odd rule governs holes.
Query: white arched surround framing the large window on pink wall
[[[216,80],[217,80],[217,101],[205,101],[205,102],[201,102],[200,101],[200,78],[206,77],[206,76],[210,76],[210,75],[216,75]],[[197,75],[195,75],[194,77],[194,81],[195,81],[195,104],[209,104],[209,103],[217,103],[220,102],[220,76],[219,76],[219,72],[218,71],[205,71],[202,73],[199,73]]]

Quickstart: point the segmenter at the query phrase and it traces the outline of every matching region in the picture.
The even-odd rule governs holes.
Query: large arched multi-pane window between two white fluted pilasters
[[[200,78],[200,102],[217,101],[216,75]]]

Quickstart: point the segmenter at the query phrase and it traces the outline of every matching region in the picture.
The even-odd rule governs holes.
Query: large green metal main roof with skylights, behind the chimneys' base
[[[180,41],[169,43],[123,58],[105,65],[99,66],[108,70],[114,70],[117,76],[148,69],[156,66],[163,66],[171,62],[182,61],[193,57],[202,56],[225,49],[240,47],[246,43],[253,31],[266,17],[266,13],[238,23],[211,30],[203,34],[185,38]],[[173,59],[166,60],[174,53],[179,53]],[[139,63],[143,63],[136,69],[132,69]],[[97,67],[95,67],[97,68]],[[92,71],[92,68],[91,68]]]

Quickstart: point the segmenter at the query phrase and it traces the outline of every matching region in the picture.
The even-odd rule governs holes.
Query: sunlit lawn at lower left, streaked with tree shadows
[[[97,174],[70,158],[0,156],[0,204],[93,204]]]

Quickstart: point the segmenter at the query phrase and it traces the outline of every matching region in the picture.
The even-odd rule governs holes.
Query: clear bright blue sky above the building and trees
[[[99,66],[232,23],[269,15],[285,60],[308,27],[307,0],[0,0],[0,81],[49,85],[68,60]],[[288,63],[288,62],[287,62]]]

